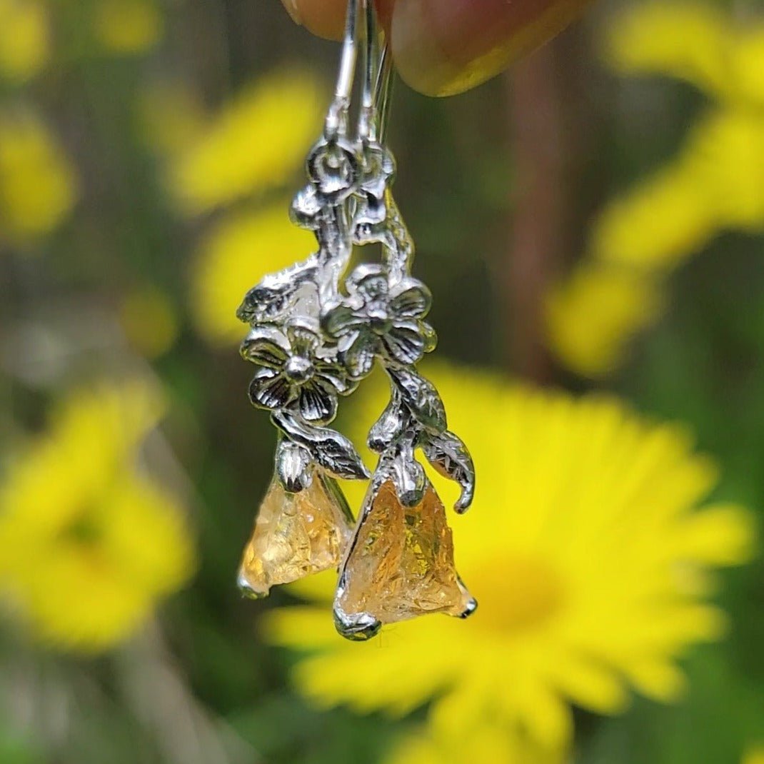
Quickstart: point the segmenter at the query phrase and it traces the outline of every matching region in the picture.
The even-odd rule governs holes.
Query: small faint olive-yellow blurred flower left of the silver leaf
[[[156,286],[128,293],[119,308],[119,319],[128,342],[147,358],[165,354],[178,336],[173,304]]]

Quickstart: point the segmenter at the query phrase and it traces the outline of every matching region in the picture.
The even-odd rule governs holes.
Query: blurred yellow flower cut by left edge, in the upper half
[[[0,238],[47,234],[75,200],[74,169],[43,122],[30,112],[0,112]]]

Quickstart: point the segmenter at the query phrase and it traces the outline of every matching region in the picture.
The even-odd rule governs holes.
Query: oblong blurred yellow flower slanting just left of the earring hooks
[[[173,161],[170,189],[189,214],[282,184],[316,138],[325,106],[305,72],[272,74],[226,105]]]

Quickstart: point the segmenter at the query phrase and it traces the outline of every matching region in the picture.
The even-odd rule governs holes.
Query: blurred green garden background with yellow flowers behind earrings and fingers
[[[0,764],[762,764],[764,5],[397,85],[480,607],[364,644],[332,575],[235,587],[275,441],[235,309],[312,249],[337,52],[276,0],[0,0]]]

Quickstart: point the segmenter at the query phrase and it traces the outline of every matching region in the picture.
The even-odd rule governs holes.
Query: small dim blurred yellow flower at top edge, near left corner
[[[144,53],[161,40],[164,21],[153,0],[99,0],[93,34],[114,53]]]

